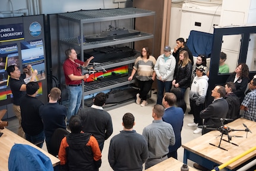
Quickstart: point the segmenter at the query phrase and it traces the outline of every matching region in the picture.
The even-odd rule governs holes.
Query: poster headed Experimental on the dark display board
[[[17,44],[0,46],[0,90],[8,86],[7,67],[18,66],[20,64],[18,60]]]

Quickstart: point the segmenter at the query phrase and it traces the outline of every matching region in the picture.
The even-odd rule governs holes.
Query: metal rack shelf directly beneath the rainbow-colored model
[[[123,85],[128,85],[134,83],[135,80],[128,81],[128,77],[121,77],[114,80],[102,81],[97,83],[84,83],[84,93],[83,96],[89,94],[97,93],[100,91],[108,90],[111,88],[121,87]]]

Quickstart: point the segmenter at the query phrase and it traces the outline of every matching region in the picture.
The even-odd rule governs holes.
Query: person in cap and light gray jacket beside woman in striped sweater
[[[170,92],[172,88],[172,81],[174,70],[176,66],[176,60],[171,55],[170,46],[165,46],[163,54],[160,55],[156,64],[154,65],[154,71],[157,78],[157,102],[156,104],[162,105],[163,92]]]

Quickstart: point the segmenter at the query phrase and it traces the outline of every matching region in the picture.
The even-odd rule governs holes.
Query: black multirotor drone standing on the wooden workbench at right
[[[203,125],[202,127],[206,128],[206,129],[211,129],[211,130],[220,131],[220,133],[221,133],[221,135],[219,135],[219,136],[221,136],[221,137],[220,137],[220,143],[222,143],[222,140],[223,140],[223,141],[226,141],[227,143],[230,143],[230,144],[239,146],[239,145],[237,145],[237,144],[235,144],[235,143],[232,143],[232,142],[230,142],[230,141],[232,140],[232,137],[242,137],[242,136],[236,136],[236,135],[230,136],[230,135],[229,135],[229,132],[233,132],[233,131],[245,131],[245,132],[246,132],[246,138],[247,138],[248,132],[252,133],[251,130],[250,130],[245,124],[243,124],[244,127],[245,127],[245,129],[232,129],[232,128],[230,128],[229,126],[226,126],[226,125],[223,124],[223,121],[233,121],[233,119],[227,119],[227,118],[213,118],[213,119],[220,119],[220,122],[222,122],[222,126],[220,126],[219,128],[207,128],[207,125]],[[209,125],[209,126],[210,126],[210,125]],[[227,140],[222,139],[222,138],[223,138],[223,135],[227,135]],[[219,137],[219,136],[218,136],[218,137]],[[210,145],[213,145],[213,146],[215,146],[215,147],[221,148],[222,150],[226,150],[225,148],[220,147],[220,143],[219,143],[219,145],[214,145],[214,144],[211,144],[211,143],[209,143],[209,144],[210,144]],[[227,151],[227,150],[226,150],[226,151]]]

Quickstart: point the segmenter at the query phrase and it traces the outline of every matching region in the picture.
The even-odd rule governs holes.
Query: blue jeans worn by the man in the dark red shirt
[[[77,115],[78,110],[80,109],[81,100],[82,100],[82,86],[69,86],[67,85],[68,91],[68,113],[67,113],[67,124],[69,119],[73,115]]]

